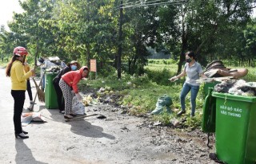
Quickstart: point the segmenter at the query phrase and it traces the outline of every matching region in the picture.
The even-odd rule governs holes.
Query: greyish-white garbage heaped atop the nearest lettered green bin
[[[215,85],[214,91],[240,96],[256,96],[256,82],[246,82],[245,80],[222,81],[222,83]]]

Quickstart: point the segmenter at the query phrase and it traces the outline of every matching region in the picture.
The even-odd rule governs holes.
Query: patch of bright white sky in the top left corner
[[[12,21],[13,12],[22,13],[22,7],[18,0],[0,0],[0,6],[0,25],[5,25],[7,29],[7,21]]]

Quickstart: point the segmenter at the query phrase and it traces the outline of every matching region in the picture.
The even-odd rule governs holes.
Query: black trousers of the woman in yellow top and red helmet
[[[23,105],[25,101],[25,92],[26,91],[18,91],[11,90],[11,96],[14,97],[14,131],[15,134],[22,133],[22,122],[21,115],[23,110]]]

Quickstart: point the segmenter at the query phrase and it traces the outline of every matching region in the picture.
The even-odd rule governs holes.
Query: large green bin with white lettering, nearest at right
[[[256,162],[256,96],[213,92],[216,97],[216,154],[229,164]]]

